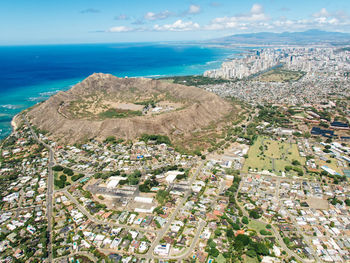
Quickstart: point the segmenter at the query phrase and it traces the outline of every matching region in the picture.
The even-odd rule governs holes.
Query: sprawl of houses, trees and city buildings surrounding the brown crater
[[[350,262],[349,51],[256,52],[249,76],[305,74],[202,86],[240,108],[206,148],[64,143],[21,113],[1,142],[0,262]]]

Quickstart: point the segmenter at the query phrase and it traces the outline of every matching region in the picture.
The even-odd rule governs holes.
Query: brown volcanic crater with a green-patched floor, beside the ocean
[[[98,73],[37,105],[28,117],[54,140],[74,143],[110,135],[186,136],[232,110],[230,103],[199,88]]]

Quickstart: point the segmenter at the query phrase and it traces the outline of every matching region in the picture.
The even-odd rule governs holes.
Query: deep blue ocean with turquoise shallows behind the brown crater
[[[118,77],[202,74],[239,52],[169,43],[2,46],[0,139],[11,133],[15,114],[69,89],[92,73]]]

